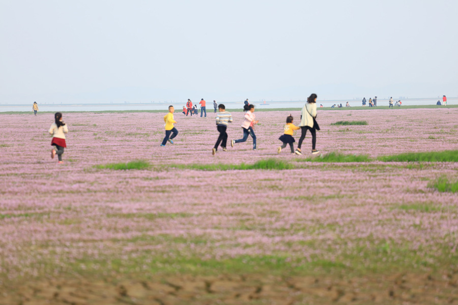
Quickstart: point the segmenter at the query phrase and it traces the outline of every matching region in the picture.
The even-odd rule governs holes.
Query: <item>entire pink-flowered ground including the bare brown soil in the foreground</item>
[[[254,113],[257,149],[251,137],[230,147],[242,137],[233,112],[228,151],[215,156],[213,113],[175,113],[179,134],[165,147],[165,113],[63,113],[64,164],[50,158],[52,114],[0,114],[0,304],[102,304],[89,292],[63,297],[62,287],[88,283],[112,291],[107,304],[458,303],[458,196],[432,187],[457,181],[457,163],[308,162],[309,134],[302,156],[276,150],[300,111]],[[457,150],[457,117],[318,110],[317,148],[372,160]],[[367,125],[331,125],[342,120]],[[218,169],[271,158],[291,168]],[[98,167],[136,160],[149,166]],[[228,284],[245,280],[248,292]],[[201,290],[188,287],[198,281]],[[149,294],[135,295],[135,283],[150,283]]]

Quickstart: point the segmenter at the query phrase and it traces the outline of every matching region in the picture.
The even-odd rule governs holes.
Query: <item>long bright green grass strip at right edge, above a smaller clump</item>
[[[458,150],[404,153],[377,158],[383,162],[458,162]]]

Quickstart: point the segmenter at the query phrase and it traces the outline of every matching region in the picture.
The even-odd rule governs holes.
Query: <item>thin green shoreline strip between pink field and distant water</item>
[[[256,105],[257,106],[257,105]],[[417,109],[417,108],[427,108],[427,109],[449,109],[449,108],[458,108],[458,105],[447,105],[447,106],[442,106],[442,105],[410,105],[410,106],[400,106],[400,107],[392,107],[390,108],[391,110],[399,110],[399,109]],[[267,112],[267,111],[300,111],[302,107],[298,108],[262,108],[257,106],[256,111],[257,112]],[[318,108],[319,111],[329,111],[329,110],[337,110],[337,111],[346,111],[346,110],[370,110],[370,111],[376,111],[376,110],[382,110],[382,109],[388,109],[388,106],[378,106],[378,107],[342,107],[342,108],[331,108],[331,107],[323,107],[323,108]],[[178,109],[175,113],[178,115],[181,113],[179,111],[181,109]],[[243,110],[240,108],[237,109],[226,109],[227,111],[230,112],[242,112]],[[62,112],[64,113],[141,113],[141,112],[146,112],[146,113],[165,113],[167,112],[167,109],[164,110],[99,110],[99,111],[65,111],[63,110]],[[55,113],[55,111],[39,111],[39,114],[45,114],[45,113]],[[213,111],[209,111],[209,114],[213,113]],[[33,115],[33,111],[5,111],[5,112],[0,112],[0,114],[31,114]]]

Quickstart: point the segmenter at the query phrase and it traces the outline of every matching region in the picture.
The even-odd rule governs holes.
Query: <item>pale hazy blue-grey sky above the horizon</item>
[[[458,97],[458,1],[0,0],[0,103]]]

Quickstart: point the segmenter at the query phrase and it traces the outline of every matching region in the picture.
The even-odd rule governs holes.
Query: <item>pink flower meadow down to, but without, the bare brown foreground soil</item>
[[[458,108],[318,113],[317,148],[323,154],[376,157],[458,149]],[[278,137],[290,114],[285,111],[255,112],[260,123],[255,151],[249,137],[234,148],[228,142],[227,152],[219,149],[212,156],[218,136],[213,113],[207,118],[175,113],[179,135],[175,144],[160,147],[164,114],[63,113],[69,129],[64,164],[50,158],[52,114],[0,114],[0,275],[40,276],[50,272],[47,264],[58,275],[81,258],[128,260],[144,254],[153,259],[282,255],[351,265],[349,255],[361,253],[365,265],[373,258],[365,260],[363,253],[377,245],[408,249],[430,264],[440,265],[444,258],[456,263],[458,196],[427,184],[440,175],[456,180],[458,165],[297,162],[310,157],[310,135],[302,146],[305,156],[290,154],[289,147],[278,155]],[[298,125],[300,111],[292,115]],[[242,137],[243,113],[233,117],[229,140]],[[366,120],[368,125],[330,125],[339,120]],[[299,136],[295,132],[295,146]],[[202,171],[168,166],[267,158],[302,168]],[[94,168],[132,160],[153,167]],[[409,208],[421,205],[433,209]],[[139,238],[145,236],[163,241]],[[381,259],[404,259],[393,252]]]

